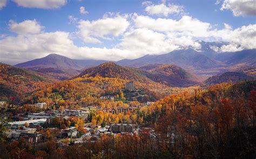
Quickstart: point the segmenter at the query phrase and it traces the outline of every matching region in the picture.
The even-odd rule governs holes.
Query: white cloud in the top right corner
[[[231,10],[234,16],[256,16],[255,0],[224,0],[220,10]]]

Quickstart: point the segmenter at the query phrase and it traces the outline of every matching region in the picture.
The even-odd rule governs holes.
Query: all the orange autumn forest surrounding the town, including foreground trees
[[[8,98],[20,103],[17,112],[35,112],[29,106],[46,102],[53,109],[92,109],[89,121],[93,125],[134,123],[151,127],[154,134],[144,129],[138,134],[115,137],[103,135],[99,140],[73,146],[59,147],[50,129],[38,129],[48,140],[35,150],[23,139],[8,141],[2,137],[0,158],[255,158],[256,156],[256,81],[234,84],[223,82],[210,87],[169,87],[161,82],[130,73],[117,77],[120,68],[111,71],[87,70],[75,78],[54,82],[25,72],[14,75],[4,66],[1,84],[20,96]],[[111,67],[114,65],[111,65]],[[109,67],[109,65],[107,66]],[[107,68],[109,69],[109,68]],[[8,72],[4,72],[4,70]],[[23,71],[23,70],[22,70]],[[94,70],[95,71],[95,70]],[[103,72],[102,72],[103,71]],[[105,74],[104,74],[105,73]],[[168,73],[168,72],[167,72]],[[16,76],[19,74],[19,76]],[[22,77],[21,75],[22,74]],[[135,73],[134,75],[137,75]],[[138,101],[127,102],[121,89],[126,81],[134,80],[136,88],[145,92],[146,101],[156,101],[142,107]],[[23,91],[25,90],[25,91]],[[115,93],[114,100],[103,100],[102,95]],[[111,114],[103,108],[137,107],[132,112]],[[9,114],[13,115],[13,114]],[[55,119],[59,129],[75,126],[85,132],[84,122],[76,117]],[[3,129],[1,128],[1,131]],[[68,141],[67,141],[68,142]]]

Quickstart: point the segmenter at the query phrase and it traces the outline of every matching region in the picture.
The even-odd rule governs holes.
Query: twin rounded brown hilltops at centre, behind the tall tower
[[[150,66],[149,66],[150,67]],[[165,65],[157,66],[151,70],[145,69],[146,66],[139,68],[130,68],[116,65],[112,62],[104,63],[97,67],[87,68],[78,77],[86,75],[87,77],[120,78],[138,82],[161,83],[172,87],[184,87],[196,84],[197,78],[178,66]]]

